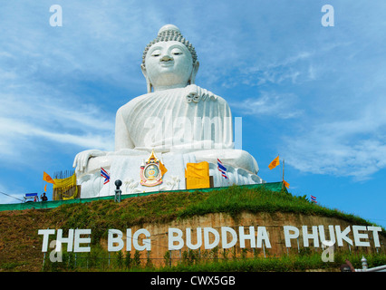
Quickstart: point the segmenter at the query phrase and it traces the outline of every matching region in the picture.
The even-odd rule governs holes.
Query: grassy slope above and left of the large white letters
[[[41,271],[43,228],[91,228],[92,244],[107,237],[109,228],[129,228],[144,223],[169,223],[212,213],[236,219],[242,213],[292,213],[340,218],[356,225],[370,222],[341,211],[324,208],[305,196],[265,188],[233,186],[213,191],[163,192],[148,196],[87,203],[63,204],[58,208],[0,212],[0,271]],[[384,229],[381,233],[385,235]]]

